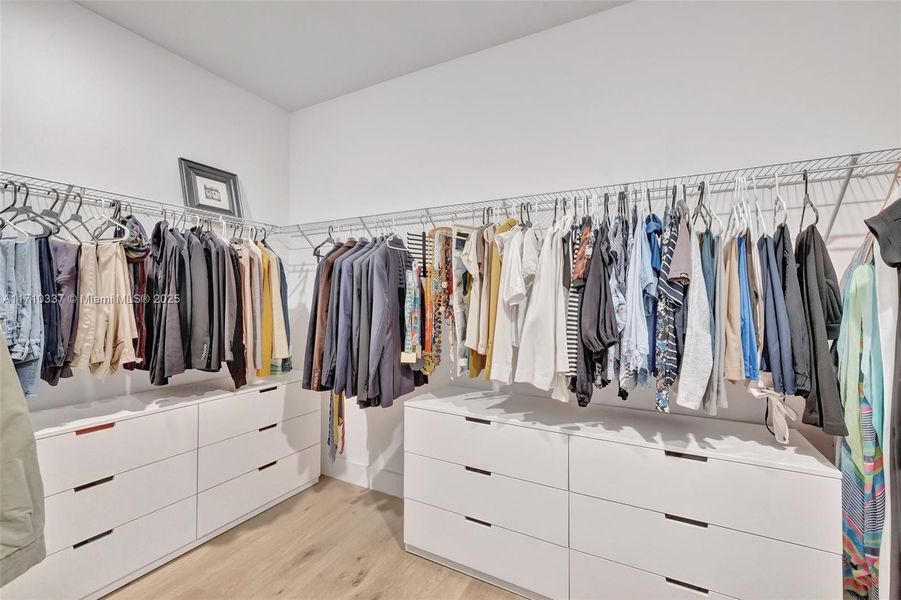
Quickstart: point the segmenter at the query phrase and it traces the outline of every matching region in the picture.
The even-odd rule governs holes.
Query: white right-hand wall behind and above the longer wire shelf
[[[295,112],[291,221],[901,145],[899,29],[897,3],[628,4]],[[296,256],[303,332],[314,266]],[[760,421],[733,391],[724,416]],[[399,493],[401,420],[348,402],[325,472]]]

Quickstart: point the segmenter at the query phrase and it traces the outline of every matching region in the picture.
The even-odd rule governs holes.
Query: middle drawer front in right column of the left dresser
[[[198,486],[209,489],[319,443],[319,411],[200,448]]]

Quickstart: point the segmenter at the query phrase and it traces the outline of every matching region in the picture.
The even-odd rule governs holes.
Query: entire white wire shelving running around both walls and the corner
[[[875,198],[862,201],[845,201],[845,194],[852,181],[884,178],[885,185],[883,189],[887,189],[890,192],[895,187],[901,187],[901,148],[839,154],[801,161],[771,163],[754,167],[695,173],[692,175],[676,175],[625,183],[594,185],[494,200],[446,204],[281,226],[243,217],[225,216],[199,208],[148,200],[117,192],[5,171],[0,171],[0,188],[7,182],[20,185],[25,184],[28,186],[30,194],[41,197],[45,201],[52,201],[58,195],[60,199],[68,198],[69,202],[77,203],[75,194],[79,194],[86,206],[102,209],[111,208],[119,204],[124,210],[136,214],[159,215],[161,217],[166,215],[175,217],[177,215],[178,218],[185,220],[188,218],[208,219],[212,222],[228,223],[236,227],[254,228],[260,232],[268,232],[269,235],[300,237],[312,248],[316,246],[318,241],[321,241],[317,238],[322,238],[332,232],[360,231],[371,236],[379,231],[388,231],[395,228],[419,226],[428,228],[476,220],[483,218],[488,214],[488,211],[491,211],[495,216],[501,214],[516,216],[522,205],[528,205],[533,214],[546,214],[561,209],[561,207],[563,210],[567,207],[572,209],[576,202],[582,202],[583,207],[590,206],[595,208],[599,206],[598,203],[603,202],[602,199],[605,194],[609,194],[611,203],[614,203],[617,194],[621,191],[629,194],[638,193],[642,201],[647,198],[652,202],[656,202],[670,197],[673,186],[681,187],[684,185],[688,189],[689,194],[697,195],[698,186],[702,182],[705,184],[706,193],[709,194],[709,197],[716,197],[733,193],[736,181],[739,178],[753,181],[758,190],[772,189],[777,182],[780,189],[790,189],[804,185],[805,174],[810,185],[832,184],[839,186],[833,200],[817,202],[819,208],[831,207],[833,209],[825,230],[825,235],[828,239],[838,211],[843,205],[848,206],[875,201]],[[795,209],[800,210],[801,206],[788,206],[788,210]]]

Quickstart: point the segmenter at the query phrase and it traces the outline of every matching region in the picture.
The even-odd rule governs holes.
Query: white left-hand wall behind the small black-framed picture
[[[0,18],[2,170],[183,204],[186,157],[237,173],[246,216],[283,222],[286,112],[72,2],[4,1]],[[149,387],[42,385],[33,408]]]

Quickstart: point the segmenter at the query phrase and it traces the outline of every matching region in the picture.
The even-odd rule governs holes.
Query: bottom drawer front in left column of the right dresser
[[[404,501],[404,542],[548,598],[566,598],[568,550],[497,525]]]

